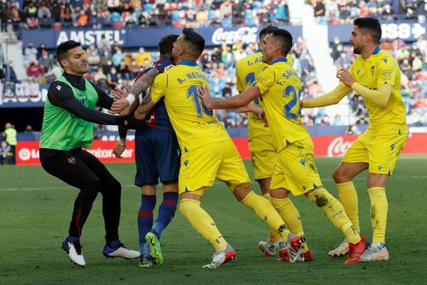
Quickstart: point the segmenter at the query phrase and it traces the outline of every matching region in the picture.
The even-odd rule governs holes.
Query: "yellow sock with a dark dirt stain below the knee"
[[[335,227],[341,229],[347,241],[353,244],[360,241],[360,235],[347,217],[344,207],[334,196],[330,195],[330,192],[327,192],[326,189],[317,190],[308,195],[308,199],[322,209]]]

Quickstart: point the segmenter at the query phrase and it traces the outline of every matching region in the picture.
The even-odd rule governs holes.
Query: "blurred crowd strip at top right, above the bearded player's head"
[[[425,23],[427,0],[310,0],[315,16],[324,24],[352,24],[353,20],[373,16],[382,22],[410,19]]]

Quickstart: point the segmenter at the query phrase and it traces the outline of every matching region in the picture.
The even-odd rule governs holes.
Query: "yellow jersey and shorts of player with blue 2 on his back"
[[[264,66],[253,83],[260,88],[263,108],[278,150],[270,189],[285,188],[301,195],[322,186],[307,129],[302,125],[302,84],[285,58]]]

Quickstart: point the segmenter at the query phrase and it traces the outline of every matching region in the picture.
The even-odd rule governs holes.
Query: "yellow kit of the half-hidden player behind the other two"
[[[292,56],[288,55],[286,59],[288,64],[293,66]],[[236,63],[237,90],[243,92],[251,86],[264,66],[266,64],[263,63],[263,54],[260,50],[238,61]],[[262,105],[262,100],[262,97],[255,98],[252,103]],[[273,145],[270,128],[266,128],[263,120],[253,113],[248,114],[248,138],[255,180],[272,177],[277,150]]]

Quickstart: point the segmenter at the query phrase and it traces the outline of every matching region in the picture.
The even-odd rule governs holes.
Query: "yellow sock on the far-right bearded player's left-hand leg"
[[[354,229],[360,232],[359,226],[359,204],[357,199],[356,188],[352,181],[339,183],[337,185],[338,199],[345,209],[347,216],[353,224]]]

